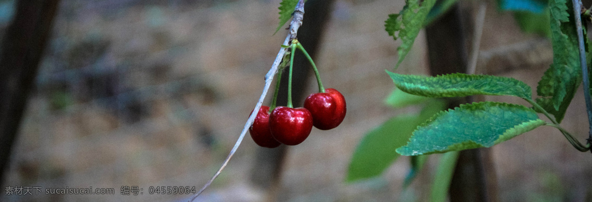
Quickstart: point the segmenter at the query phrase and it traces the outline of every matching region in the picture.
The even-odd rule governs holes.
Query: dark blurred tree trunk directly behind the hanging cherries
[[[313,59],[316,59],[318,45],[320,44],[323,30],[329,21],[333,0],[309,0],[304,5],[303,24],[298,30],[298,41],[306,48]],[[281,33],[281,32],[278,32]],[[311,92],[304,92],[313,75],[312,66],[300,51],[294,56],[294,70],[292,72],[292,103],[294,107],[302,107],[304,99]],[[323,69],[320,68],[321,74]],[[270,92],[273,92],[271,90]],[[288,74],[282,74],[282,80],[278,93],[278,106],[286,106],[288,103]],[[268,192],[268,201],[275,201],[281,185],[282,164],[284,163],[288,147],[281,145],[278,148],[258,148],[255,166],[251,171],[253,184]]]

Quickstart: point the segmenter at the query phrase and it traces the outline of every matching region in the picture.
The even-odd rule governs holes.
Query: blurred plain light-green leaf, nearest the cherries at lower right
[[[400,157],[395,149],[406,144],[419,125],[419,116],[399,116],[382,123],[364,136],[349,164],[346,181],[376,177]]]

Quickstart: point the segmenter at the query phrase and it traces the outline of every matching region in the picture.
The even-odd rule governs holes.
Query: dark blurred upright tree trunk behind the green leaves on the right
[[[430,72],[433,76],[466,73],[466,26],[463,19],[470,15],[462,12],[458,3],[442,17],[426,27]],[[473,97],[449,99],[449,107],[472,102]],[[489,149],[461,151],[452,177],[451,201],[497,201],[497,183]]]

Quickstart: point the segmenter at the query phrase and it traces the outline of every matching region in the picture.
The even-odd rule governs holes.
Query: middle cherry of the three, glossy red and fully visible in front
[[[303,107],[276,107],[269,115],[269,128],[275,140],[285,145],[298,145],[310,135],[313,116]]]

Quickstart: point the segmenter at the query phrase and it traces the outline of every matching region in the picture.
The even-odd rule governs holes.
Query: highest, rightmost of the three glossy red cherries
[[[347,111],[345,97],[335,89],[311,94],[304,100],[304,108],[313,115],[313,125],[321,130],[339,126]]]

